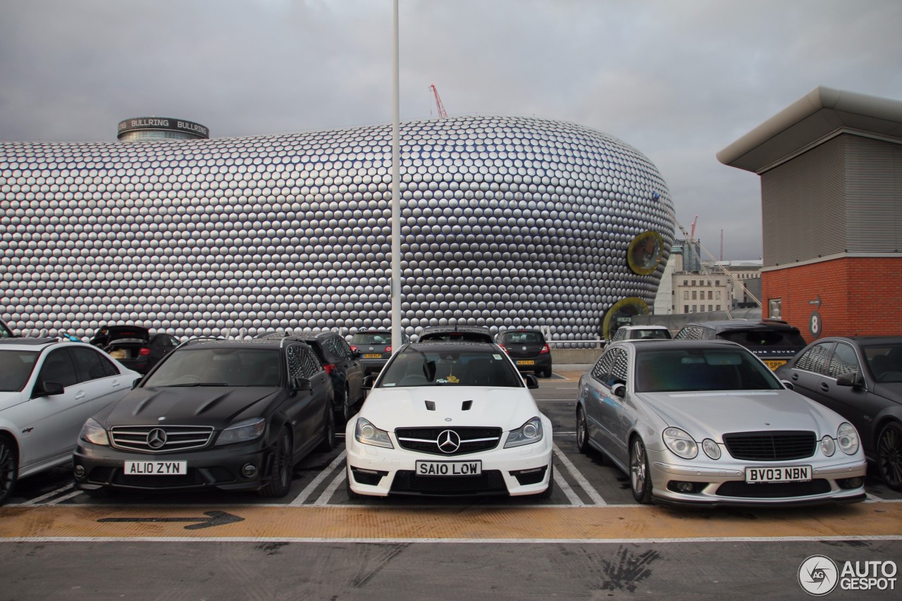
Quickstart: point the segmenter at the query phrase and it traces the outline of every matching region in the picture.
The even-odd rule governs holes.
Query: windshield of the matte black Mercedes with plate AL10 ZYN
[[[274,348],[179,348],[143,385],[278,386],[279,351]]]

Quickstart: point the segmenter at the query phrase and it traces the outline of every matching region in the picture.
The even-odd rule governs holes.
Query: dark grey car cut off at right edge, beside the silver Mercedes
[[[777,375],[851,421],[880,477],[902,491],[902,337],[821,338]]]

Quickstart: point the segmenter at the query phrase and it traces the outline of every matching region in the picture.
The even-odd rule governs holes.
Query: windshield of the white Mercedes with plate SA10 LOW
[[[446,385],[521,388],[523,380],[501,353],[408,349],[385,366],[378,387]]]

